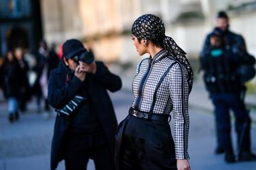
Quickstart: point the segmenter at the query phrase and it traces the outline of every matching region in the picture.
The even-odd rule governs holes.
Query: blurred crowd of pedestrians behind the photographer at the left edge
[[[36,54],[16,47],[0,58],[0,89],[8,102],[10,123],[18,121],[20,113],[26,113],[27,103],[33,99],[37,112],[44,110],[48,117],[48,78],[50,71],[58,66],[59,58],[55,45],[48,47],[45,41],[39,43]]]

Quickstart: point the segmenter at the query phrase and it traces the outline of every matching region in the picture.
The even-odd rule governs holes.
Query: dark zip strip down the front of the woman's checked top
[[[135,106],[134,106],[135,110],[139,110],[139,105],[140,105],[141,99],[142,99],[143,87],[145,85],[147,77],[149,77],[149,72],[151,71],[151,68],[152,68],[152,61],[153,61],[153,59],[149,58],[149,66],[148,66],[147,71],[146,71],[146,73],[145,73],[145,75],[144,75],[144,77],[141,80],[141,83],[139,85],[138,96],[137,96],[137,99],[136,99],[136,102],[135,102]]]

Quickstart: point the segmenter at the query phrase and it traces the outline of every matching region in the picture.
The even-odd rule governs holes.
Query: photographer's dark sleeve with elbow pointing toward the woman
[[[120,90],[122,87],[122,81],[119,76],[114,75],[109,71],[107,66],[103,62],[96,62],[96,72],[94,79],[98,81],[103,87],[111,92]]]

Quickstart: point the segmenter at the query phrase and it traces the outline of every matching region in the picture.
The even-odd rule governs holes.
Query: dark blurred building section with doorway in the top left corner
[[[0,56],[24,47],[35,52],[43,37],[40,0],[0,0]]]

